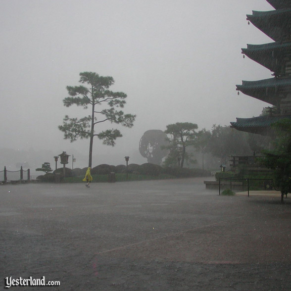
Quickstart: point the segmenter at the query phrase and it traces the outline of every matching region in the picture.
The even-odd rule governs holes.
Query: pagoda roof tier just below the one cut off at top
[[[276,42],[290,36],[291,8],[252,11],[252,15],[246,15],[246,20],[249,20],[255,27]]]

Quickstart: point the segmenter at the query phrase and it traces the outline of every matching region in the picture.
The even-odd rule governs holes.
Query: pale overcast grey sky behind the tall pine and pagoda
[[[125,155],[146,162],[138,148],[149,129],[176,122],[211,129],[259,115],[268,104],[238,96],[235,86],[271,78],[242,58],[246,44],[272,42],[247,25],[252,10],[273,7],[265,0],[0,0],[0,148],[64,150],[77,155],[76,167],[87,166],[89,141],[71,144],[57,128],[65,114],[90,114],[62,102],[84,71],[112,76],[111,89],[128,95],[124,111],[137,115],[115,147],[95,140],[94,165],[124,163]]]

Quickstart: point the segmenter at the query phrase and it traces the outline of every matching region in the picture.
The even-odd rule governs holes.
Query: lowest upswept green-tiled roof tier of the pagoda
[[[252,118],[237,118],[236,122],[231,122],[233,128],[261,135],[269,135],[271,133],[271,125],[276,121],[284,118],[291,119],[291,115],[270,116],[262,115]]]

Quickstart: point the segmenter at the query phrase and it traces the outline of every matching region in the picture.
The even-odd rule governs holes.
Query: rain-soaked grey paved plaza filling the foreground
[[[291,290],[291,199],[203,180],[0,186],[0,290]]]

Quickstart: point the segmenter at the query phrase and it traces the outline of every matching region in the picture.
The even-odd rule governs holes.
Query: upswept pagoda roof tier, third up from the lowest
[[[264,45],[247,45],[247,48],[242,48],[243,54],[277,75],[282,73],[284,56],[290,54],[290,51],[291,43],[277,42]]]

